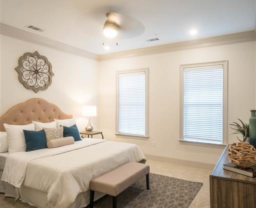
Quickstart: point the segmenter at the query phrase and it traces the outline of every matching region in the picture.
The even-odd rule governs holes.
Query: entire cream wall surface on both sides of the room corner
[[[247,120],[255,107],[255,43],[245,42],[197,48],[109,61],[94,60],[60,52],[4,35],[0,54],[0,114],[12,105],[31,97],[42,97],[57,104],[78,119],[83,104],[97,105],[99,115],[94,127],[103,130],[110,140],[136,143],[145,152],[179,159],[214,163],[222,149],[181,144],[179,138],[179,65],[185,63],[228,60],[228,122],[237,117]],[[35,93],[18,81],[14,70],[18,58],[37,50],[52,64],[52,84]],[[115,71],[149,68],[149,138],[117,138],[115,132]],[[228,142],[235,140],[228,132]],[[152,146],[155,141],[156,146]]]

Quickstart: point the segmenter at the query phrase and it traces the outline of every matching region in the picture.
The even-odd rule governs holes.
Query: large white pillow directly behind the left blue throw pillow
[[[3,125],[7,133],[9,153],[11,154],[17,151],[25,151],[26,143],[23,129],[34,130],[34,123],[27,125],[9,125],[4,123]]]

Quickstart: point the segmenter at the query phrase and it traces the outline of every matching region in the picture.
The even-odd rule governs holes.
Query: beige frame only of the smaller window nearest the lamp
[[[145,135],[129,134],[129,133],[119,133],[118,131],[118,92],[119,92],[119,80],[118,75],[122,73],[135,73],[135,72],[145,72]],[[115,135],[117,137],[124,138],[148,138],[148,68],[130,69],[130,70],[120,70],[116,71],[116,94],[115,94]]]

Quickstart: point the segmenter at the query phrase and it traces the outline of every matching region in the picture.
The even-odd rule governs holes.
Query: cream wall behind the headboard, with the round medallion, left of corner
[[[81,118],[83,104],[97,105],[98,61],[60,52],[4,35],[1,38],[0,54],[0,114],[18,102],[32,97],[41,97],[57,104],[64,112],[73,114],[78,127],[83,128],[87,122]],[[37,50],[48,58],[54,76],[51,85],[45,91],[26,89],[18,80],[14,69],[18,58],[25,52]],[[97,119],[92,120],[97,127]]]

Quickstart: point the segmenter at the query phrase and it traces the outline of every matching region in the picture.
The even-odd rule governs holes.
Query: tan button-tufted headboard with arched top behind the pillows
[[[5,131],[3,123],[12,125],[25,125],[32,120],[39,122],[50,122],[55,119],[72,118],[65,114],[60,108],[42,98],[31,98],[25,102],[11,107],[0,117],[0,131]]]

